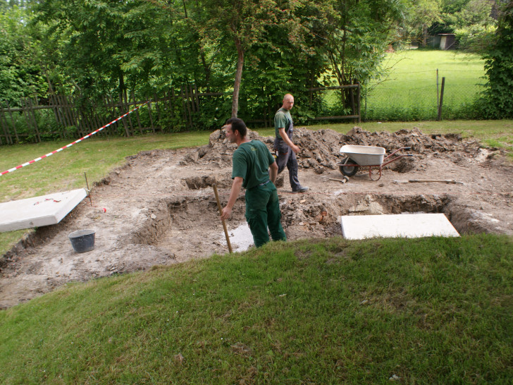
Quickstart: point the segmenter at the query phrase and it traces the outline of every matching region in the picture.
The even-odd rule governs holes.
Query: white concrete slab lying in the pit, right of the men
[[[459,237],[444,214],[347,215],[340,224],[347,239]]]

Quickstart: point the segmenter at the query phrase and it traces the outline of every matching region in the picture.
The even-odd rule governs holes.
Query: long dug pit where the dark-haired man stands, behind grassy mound
[[[458,233],[483,231],[473,212],[453,202],[450,195],[303,195],[304,199],[280,196],[282,224],[289,240],[308,236],[342,236],[341,216],[442,213]],[[241,195],[233,214],[226,221],[233,251],[253,245],[245,221],[245,202]],[[214,197],[184,197],[159,202],[149,210],[147,221],[132,233],[132,243],[153,245],[180,260],[208,257],[228,252],[223,226]]]

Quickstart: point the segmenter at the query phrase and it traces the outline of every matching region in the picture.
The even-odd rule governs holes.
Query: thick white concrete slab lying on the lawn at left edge
[[[65,191],[0,203],[0,233],[58,224],[87,197],[87,190]]]

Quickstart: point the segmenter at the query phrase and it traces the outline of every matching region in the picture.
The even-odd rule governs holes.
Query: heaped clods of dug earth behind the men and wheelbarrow
[[[274,138],[261,137],[257,131],[248,130],[248,137],[252,140],[261,140],[273,152]],[[417,167],[422,168],[419,159],[426,154],[435,154],[438,157],[449,157],[455,162],[472,161],[492,156],[490,150],[483,149],[476,140],[462,140],[458,134],[426,135],[419,130],[399,130],[395,133],[388,131],[373,132],[354,126],[347,134],[340,134],[335,130],[307,130],[296,128],[294,142],[301,151],[297,154],[300,169],[309,169],[317,174],[328,170],[338,169],[340,162],[340,147],[342,145],[361,145],[384,147],[387,153],[411,147],[409,152],[400,154],[415,154],[415,158],[404,157],[387,166],[388,169],[399,173],[407,173]],[[211,133],[209,144],[199,147],[195,152],[187,154],[180,164],[209,164],[223,168],[231,165],[233,151],[237,148],[230,143],[223,130]],[[209,183],[206,183],[208,185]]]

